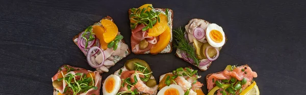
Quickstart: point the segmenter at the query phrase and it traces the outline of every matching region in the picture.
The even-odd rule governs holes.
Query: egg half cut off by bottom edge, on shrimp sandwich
[[[157,95],[181,95],[184,94],[184,90],[180,85],[171,84],[163,87]]]

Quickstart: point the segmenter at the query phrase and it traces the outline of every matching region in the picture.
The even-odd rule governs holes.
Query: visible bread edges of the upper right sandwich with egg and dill
[[[204,22],[210,24],[209,21],[206,21],[206,20],[203,20],[203,19],[199,19],[199,18],[193,18],[193,19],[189,20],[189,22],[188,22],[187,25],[190,25],[190,23],[192,23],[194,20],[202,20],[202,21],[204,21]],[[187,32],[187,31],[185,30],[185,32]],[[226,35],[224,35],[224,36],[225,36],[225,43],[226,43],[227,38],[226,38]],[[224,44],[225,44],[225,43],[224,43]],[[219,51],[221,51],[221,49],[222,49],[222,46],[219,48]],[[180,50],[179,50],[179,49],[176,50],[175,56],[177,56],[177,57],[183,59],[184,61],[186,61],[186,62],[188,62],[188,63],[190,63],[190,64],[192,64],[192,65],[194,65],[194,66],[196,66],[196,67],[198,67],[198,68],[199,68],[200,70],[202,70],[202,71],[207,70],[207,69],[210,67],[210,65],[212,64],[212,61],[211,61],[211,62],[209,62],[209,64],[207,64],[207,65],[204,65],[204,66],[197,66],[197,65],[195,65],[194,63],[191,63],[189,60],[184,59],[184,58],[181,56]]]

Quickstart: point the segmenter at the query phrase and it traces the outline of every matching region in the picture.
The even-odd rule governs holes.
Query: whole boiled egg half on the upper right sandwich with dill
[[[206,39],[213,47],[221,47],[225,43],[225,35],[222,27],[211,23],[206,29]]]

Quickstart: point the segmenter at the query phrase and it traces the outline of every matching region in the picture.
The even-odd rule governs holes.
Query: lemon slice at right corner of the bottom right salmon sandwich
[[[259,89],[255,81],[240,93],[240,95],[254,95],[254,94],[259,95]]]

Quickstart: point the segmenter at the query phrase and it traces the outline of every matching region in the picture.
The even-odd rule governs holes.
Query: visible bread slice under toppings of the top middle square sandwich
[[[161,9],[161,8],[154,8],[154,10],[159,10],[161,12],[165,12],[166,9]],[[171,53],[172,52],[172,40],[173,40],[173,33],[172,33],[172,26],[173,26],[173,11],[171,9],[168,10],[169,13],[171,14],[170,16],[170,19],[171,19],[171,23],[170,25],[168,25],[170,27],[170,33],[171,33],[171,39],[170,39],[170,42],[169,44],[167,45],[167,47],[162,51],[160,52],[159,54],[166,54],[166,53]],[[129,9],[129,19],[130,19],[130,15],[131,15],[132,11],[131,9]],[[132,26],[131,26],[132,27]],[[132,31],[132,30],[131,30]],[[131,48],[132,49],[132,48]],[[133,52],[134,53],[134,52]],[[134,54],[149,54],[150,52],[147,51],[147,52],[144,52],[144,53],[134,53]],[[157,54],[152,54],[152,55],[157,55]]]

